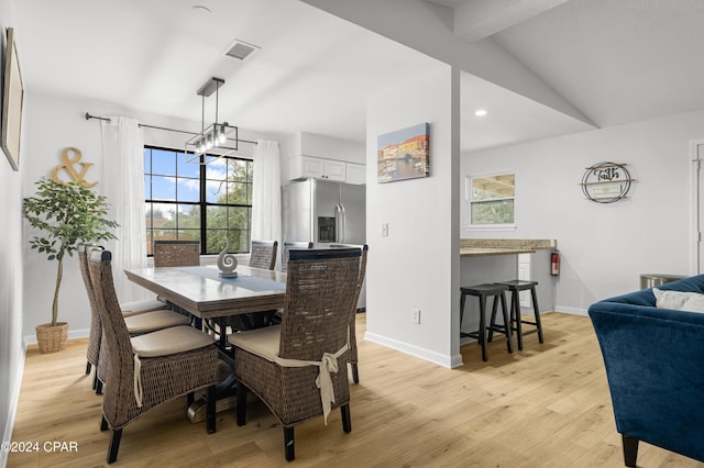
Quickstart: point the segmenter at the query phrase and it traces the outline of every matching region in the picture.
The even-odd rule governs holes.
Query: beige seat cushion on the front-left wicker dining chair
[[[130,342],[140,357],[158,357],[210,346],[215,338],[193,326],[172,326],[134,336]]]

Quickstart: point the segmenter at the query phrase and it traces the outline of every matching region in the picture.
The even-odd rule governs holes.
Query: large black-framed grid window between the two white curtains
[[[145,146],[146,252],[158,239],[200,241],[201,254],[250,249],[254,163],[238,157],[188,163],[183,151]]]

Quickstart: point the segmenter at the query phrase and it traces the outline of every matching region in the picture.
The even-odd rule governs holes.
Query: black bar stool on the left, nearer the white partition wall
[[[494,317],[496,315],[496,309],[498,307],[499,300],[502,303],[502,313],[504,315],[504,323],[509,323],[508,312],[506,308],[506,294],[505,294],[507,290],[508,290],[508,287],[503,285],[477,285],[477,286],[468,286],[468,287],[460,288],[460,291],[462,292],[462,297],[460,298],[460,337],[468,336],[470,338],[475,338],[477,342],[480,342],[480,344],[482,345],[482,360],[486,360],[486,330],[487,328],[492,334],[494,330],[505,333],[506,346],[508,347],[508,353],[514,352],[510,345],[512,327],[494,325]],[[462,316],[464,315],[464,302],[468,296],[474,296],[480,298],[480,328],[476,332],[470,332],[470,333],[462,332]],[[486,298],[490,298],[490,297],[494,298],[494,303],[492,307],[492,321],[490,326],[486,326]]]

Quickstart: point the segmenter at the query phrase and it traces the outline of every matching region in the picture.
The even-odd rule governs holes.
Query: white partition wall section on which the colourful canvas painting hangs
[[[370,100],[366,123],[365,338],[444,367],[461,364],[459,337],[452,333],[459,330],[452,324],[459,311],[455,75],[453,79],[444,64],[419,67],[418,76],[405,77],[393,90]],[[454,99],[459,101],[459,96]],[[377,183],[378,135],[424,122],[430,124],[430,177]],[[388,223],[387,237],[382,237],[382,223]],[[419,325],[410,320],[414,308],[421,311]]]

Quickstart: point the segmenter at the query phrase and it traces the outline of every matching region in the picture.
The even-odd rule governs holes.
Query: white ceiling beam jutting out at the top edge
[[[454,33],[475,42],[569,0],[466,0],[454,8]]]

